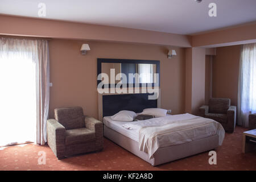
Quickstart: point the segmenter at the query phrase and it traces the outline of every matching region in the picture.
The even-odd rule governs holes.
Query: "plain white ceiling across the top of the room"
[[[138,28],[174,34],[195,34],[256,20],[256,0],[0,0],[0,14]],[[210,2],[217,17],[208,16]],[[1,23],[1,22],[0,22]]]

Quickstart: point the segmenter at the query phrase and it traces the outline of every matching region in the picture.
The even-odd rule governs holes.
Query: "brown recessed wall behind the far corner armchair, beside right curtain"
[[[218,47],[213,58],[213,97],[226,97],[237,106],[241,45]]]

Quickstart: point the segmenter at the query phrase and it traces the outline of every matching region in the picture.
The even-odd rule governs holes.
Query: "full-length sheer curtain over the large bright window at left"
[[[47,40],[0,38],[0,146],[46,142],[48,60]]]

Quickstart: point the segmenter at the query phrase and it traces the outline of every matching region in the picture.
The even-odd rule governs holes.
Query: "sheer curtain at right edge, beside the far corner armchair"
[[[238,86],[238,125],[248,127],[250,113],[256,113],[256,44],[242,46]]]

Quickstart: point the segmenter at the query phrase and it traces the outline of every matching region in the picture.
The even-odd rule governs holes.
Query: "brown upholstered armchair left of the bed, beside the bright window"
[[[100,151],[103,148],[102,122],[84,115],[81,107],[54,110],[47,121],[47,143],[58,159]]]

